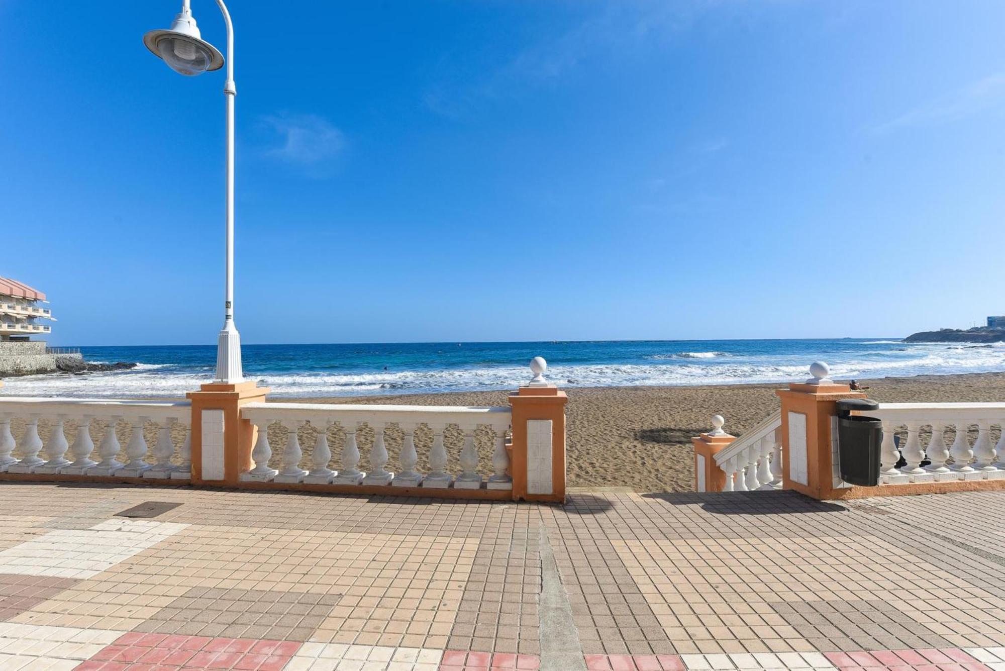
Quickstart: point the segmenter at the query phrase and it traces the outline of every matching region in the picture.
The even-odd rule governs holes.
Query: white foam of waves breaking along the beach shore
[[[697,357],[653,358],[649,363],[552,364],[547,377],[565,387],[673,386],[782,383],[808,377],[815,358],[830,364],[838,380],[885,376],[909,377],[1005,371],[1005,350],[946,344],[904,344],[895,350],[852,354],[722,356],[725,353],[682,353]],[[636,360],[636,362],[639,360]],[[407,394],[470,390],[512,390],[528,382],[526,366],[456,367],[437,370],[375,371],[369,373],[291,372],[253,375],[249,379],[272,389],[273,396],[310,398],[368,394]],[[0,394],[104,398],[179,397],[212,377],[211,368],[142,365],[131,371],[87,375],[51,374],[10,378]]]

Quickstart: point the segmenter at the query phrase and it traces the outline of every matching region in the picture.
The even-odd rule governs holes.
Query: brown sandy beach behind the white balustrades
[[[870,386],[868,395],[886,402],[949,402],[1005,400],[1005,373],[985,373],[957,376],[919,376],[860,381]],[[710,428],[713,415],[726,418],[726,430],[742,435],[778,407],[775,390],[781,385],[730,385],[702,387],[608,387],[570,388],[568,405],[568,474],[571,487],[629,487],[635,491],[690,491],[693,487],[693,466],[690,439]],[[507,405],[505,392],[470,392],[457,394],[419,394],[401,396],[340,397],[304,399],[313,403],[364,403],[413,405]],[[39,423],[40,433],[47,437],[47,422]],[[23,424],[12,422],[12,430],[20,438]],[[91,436],[96,445],[106,427],[95,421]],[[125,447],[131,429],[120,424],[118,436]],[[67,422],[67,439],[73,440],[76,427]],[[156,432],[145,432],[149,443]],[[316,439],[311,427],[301,428],[299,442],[304,450],[301,466],[309,466]],[[947,433],[952,438],[952,430]],[[176,434],[176,442],[181,436]],[[997,430],[995,431],[997,439]],[[281,461],[286,436],[278,425],[269,430],[273,467]],[[338,427],[329,430],[329,444],[338,462],[343,432]],[[370,468],[369,449],[373,432],[363,427],[358,432],[362,460],[360,468]],[[428,470],[426,455],[432,435],[426,427],[416,431],[419,470]],[[444,435],[450,457],[448,470],[460,471],[457,455],[462,437],[448,428]],[[395,426],[387,429],[386,443],[390,460],[388,470],[397,470],[401,433]],[[489,463],[492,443],[486,432],[479,432],[476,445],[481,455],[480,471],[491,472]],[[15,450],[15,456],[18,451]],[[44,453],[43,453],[44,456]],[[121,456],[120,460],[124,460]]]

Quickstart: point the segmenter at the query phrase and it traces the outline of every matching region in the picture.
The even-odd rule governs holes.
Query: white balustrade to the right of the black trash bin
[[[854,414],[882,422],[880,484],[1005,478],[1000,461],[1005,436],[997,445],[991,439],[993,426],[1005,427],[1005,403],[880,403],[877,410]],[[971,446],[968,433],[974,425],[977,440]],[[907,428],[899,453],[893,441],[898,427]],[[949,427],[956,437],[947,448],[944,432]],[[926,428],[932,437],[923,448],[921,434]],[[901,455],[907,464],[896,469]],[[925,460],[930,464],[922,467]]]

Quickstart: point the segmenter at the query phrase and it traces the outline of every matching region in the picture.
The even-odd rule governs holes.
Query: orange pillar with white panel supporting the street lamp
[[[264,401],[268,392],[253,382],[210,383],[186,395],[192,402],[192,484],[236,486],[251,468],[255,427],[241,419],[240,408]]]

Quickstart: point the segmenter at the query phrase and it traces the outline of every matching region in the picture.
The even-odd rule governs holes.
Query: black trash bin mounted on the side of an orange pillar
[[[869,399],[837,402],[837,459],[841,479],[849,484],[874,487],[879,484],[879,444],[882,423],[874,417],[853,416],[852,410],[877,410]]]

